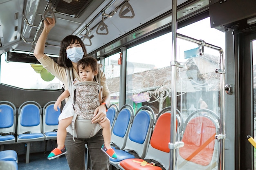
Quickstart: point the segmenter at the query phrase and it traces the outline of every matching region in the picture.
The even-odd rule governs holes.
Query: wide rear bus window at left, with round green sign
[[[49,75],[42,65],[6,62],[5,58],[4,53],[1,55],[0,83],[24,89],[61,89],[62,82]]]

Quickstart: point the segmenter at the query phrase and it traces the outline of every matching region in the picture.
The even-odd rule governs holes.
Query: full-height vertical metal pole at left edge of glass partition
[[[172,0],[172,61],[171,61],[171,139],[170,170],[175,170],[175,138],[176,138],[176,41],[177,41],[177,0]]]

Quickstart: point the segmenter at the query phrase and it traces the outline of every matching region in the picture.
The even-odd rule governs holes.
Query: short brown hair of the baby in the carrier
[[[79,67],[82,69],[85,69],[85,67],[90,66],[92,68],[92,71],[98,71],[99,72],[99,64],[97,60],[94,57],[83,57],[79,62],[77,63],[77,72],[79,73]]]

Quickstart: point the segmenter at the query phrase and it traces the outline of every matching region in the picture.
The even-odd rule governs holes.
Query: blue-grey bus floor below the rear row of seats
[[[31,153],[29,163],[26,163],[26,155],[18,155],[18,170],[69,170],[65,155],[48,160],[44,152]]]

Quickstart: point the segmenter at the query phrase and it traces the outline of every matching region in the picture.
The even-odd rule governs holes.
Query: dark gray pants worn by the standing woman
[[[85,144],[87,144],[89,149],[92,170],[109,170],[109,158],[101,150],[101,146],[104,143],[102,129],[90,139],[75,140],[74,142],[72,135],[67,133],[65,140],[67,149],[66,159],[70,170],[85,170]]]

